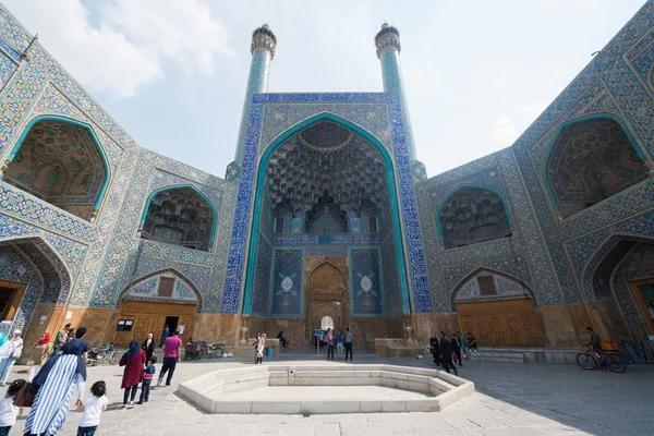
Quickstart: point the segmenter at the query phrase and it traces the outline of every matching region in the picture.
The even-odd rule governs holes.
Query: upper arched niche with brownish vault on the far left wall
[[[19,140],[2,180],[90,221],[109,183],[109,165],[90,126],[39,117]]]

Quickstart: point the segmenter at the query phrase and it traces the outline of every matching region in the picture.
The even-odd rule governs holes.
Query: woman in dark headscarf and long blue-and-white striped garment
[[[75,385],[77,402],[84,398],[88,351],[88,343],[82,340],[85,334],[86,327],[80,327],[75,339],[65,342],[34,377],[32,389],[38,391],[25,422],[25,435],[56,435],[65,421]]]

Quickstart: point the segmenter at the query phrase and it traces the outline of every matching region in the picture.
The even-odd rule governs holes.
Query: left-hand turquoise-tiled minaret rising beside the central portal
[[[276,46],[277,38],[267,24],[264,24],[252,33],[252,45],[250,46],[252,62],[250,63],[250,75],[247,76],[247,88],[245,89],[241,128],[239,129],[239,143],[237,144],[237,154],[234,156],[235,161],[240,161],[243,158],[247,128],[250,126],[252,96],[257,93],[265,93],[268,87],[268,72],[270,71],[270,61],[275,58]]]

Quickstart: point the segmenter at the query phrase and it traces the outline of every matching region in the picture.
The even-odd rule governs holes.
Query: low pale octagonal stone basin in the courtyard
[[[261,365],[214,371],[179,385],[207,413],[439,411],[474,384],[444,371],[399,365]]]

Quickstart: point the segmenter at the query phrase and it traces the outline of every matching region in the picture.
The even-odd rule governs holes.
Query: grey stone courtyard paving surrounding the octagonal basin
[[[355,356],[356,358],[356,356]],[[315,363],[311,355],[277,361]],[[428,367],[426,360],[390,360],[359,355],[354,363],[392,363]],[[465,362],[460,375],[476,392],[441,412],[339,415],[209,415],[179,398],[177,383],[217,368],[251,365],[222,359],[178,365],[173,386],[156,388],[145,405],[123,410],[122,368],[88,370],[88,383],[104,379],[109,410],[99,435],[652,435],[654,434],[654,367],[630,366],[623,374],[586,372],[577,366],[487,364]],[[270,362],[268,364],[275,364]],[[157,365],[158,368],[160,365]],[[157,370],[158,370],[157,368]],[[19,370],[21,370],[19,367]],[[14,376],[21,376],[14,375]],[[365,391],[366,387],[360,388]],[[365,393],[362,393],[365,395]],[[60,435],[74,435],[80,413],[71,411]],[[20,435],[25,419],[12,434]]]

